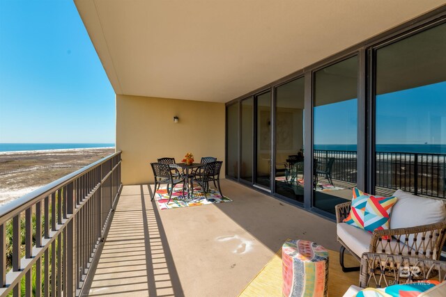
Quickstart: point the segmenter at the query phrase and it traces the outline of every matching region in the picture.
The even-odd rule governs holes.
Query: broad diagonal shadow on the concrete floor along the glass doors
[[[331,250],[339,249],[332,220],[228,179],[222,180],[222,191],[233,202],[215,204],[215,207],[273,252],[286,239],[306,239]]]

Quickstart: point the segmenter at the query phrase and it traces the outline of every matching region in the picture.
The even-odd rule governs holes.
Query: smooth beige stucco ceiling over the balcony
[[[228,102],[444,0],[75,0],[117,94]]]

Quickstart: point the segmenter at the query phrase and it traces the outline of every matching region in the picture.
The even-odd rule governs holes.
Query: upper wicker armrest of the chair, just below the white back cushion
[[[409,242],[412,235],[413,242]],[[387,240],[383,239],[387,236]],[[391,245],[392,237],[403,245]],[[370,240],[370,252],[385,252],[393,255],[415,255],[427,259],[438,259],[446,239],[446,221],[416,227],[374,230]]]

